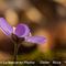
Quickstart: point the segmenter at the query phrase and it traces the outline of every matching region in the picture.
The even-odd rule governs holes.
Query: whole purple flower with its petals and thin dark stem
[[[14,62],[16,62],[18,58],[18,47],[19,47],[19,41],[20,40],[30,42],[30,43],[36,43],[36,44],[44,44],[45,37],[43,36],[32,36],[31,31],[26,24],[18,24],[16,28],[11,26],[3,18],[0,18],[0,30],[7,35],[11,37],[11,41],[14,43]],[[14,35],[14,37],[12,37]],[[24,38],[24,40],[22,40]],[[13,66],[16,66],[16,64],[13,64]]]

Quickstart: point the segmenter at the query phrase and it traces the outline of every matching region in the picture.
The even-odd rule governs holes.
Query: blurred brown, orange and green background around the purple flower
[[[22,43],[18,61],[66,59],[66,0],[0,0],[0,18],[12,26],[29,25],[44,44]],[[0,30],[0,61],[12,61],[13,43]],[[63,65],[62,65],[63,66]]]

